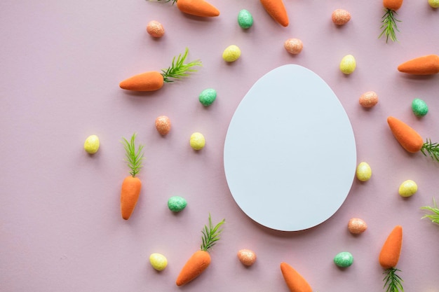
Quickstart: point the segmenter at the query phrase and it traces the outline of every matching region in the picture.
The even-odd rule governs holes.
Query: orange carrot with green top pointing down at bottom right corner
[[[398,264],[401,246],[403,244],[403,227],[396,225],[384,242],[379,253],[379,265],[384,269],[384,288],[386,292],[403,292],[403,279],[401,279],[396,268]]]

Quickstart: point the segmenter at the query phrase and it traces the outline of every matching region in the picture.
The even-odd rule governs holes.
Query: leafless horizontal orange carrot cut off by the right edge
[[[398,66],[398,71],[414,75],[432,75],[439,73],[439,56],[426,55],[408,60]]]

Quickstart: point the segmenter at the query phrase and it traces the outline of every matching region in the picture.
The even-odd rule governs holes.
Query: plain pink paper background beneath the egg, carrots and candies
[[[211,3],[221,11],[218,18],[195,18],[170,3],[143,0],[0,2],[0,290],[286,292],[279,269],[285,261],[313,291],[382,291],[377,257],[399,224],[405,290],[439,291],[439,226],[421,220],[419,209],[433,197],[439,201],[439,163],[405,152],[386,125],[387,116],[396,116],[439,141],[439,76],[396,70],[405,60],[439,53],[439,10],[426,0],[405,1],[398,11],[400,42],[385,43],[377,39],[381,1],[285,0],[286,28],[259,1]],[[248,30],[236,22],[243,8],[255,19]],[[336,8],[351,12],[344,27],[331,22]],[[146,33],[150,20],[163,24],[163,38]],[[292,37],[304,43],[296,56],[283,48]],[[242,56],[227,64],[222,51],[231,44]],[[119,88],[128,76],[168,67],[185,47],[189,60],[203,62],[190,78],[147,94]],[[350,76],[338,69],[347,54],[357,60]],[[283,64],[307,67],[330,85],[351,119],[358,162],[368,162],[373,172],[370,181],[353,182],[332,218],[301,232],[269,230],[245,216],[229,193],[222,162],[236,106],[258,78]],[[208,108],[198,102],[205,88],[218,92]],[[365,110],[358,97],[369,90],[377,92],[379,104]],[[410,109],[415,97],[430,108],[424,118]],[[163,114],[173,122],[167,137],[154,128]],[[128,169],[119,141],[133,132],[145,145],[144,188],[133,216],[123,221],[119,192]],[[192,132],[205,135],[202,151],[189,147]],[[90,134],[101,141],[95,155],[83,151]],[[315,137],[308,143],[322,145],[321,153],[306,153],[304,144],[304,153],[320,155],[323,169],[330,170],[325,144],[342,141]],[[398,187],[406,179],[416,181],[419,191],[403,199]],[[180,214],[166,205],[173,195],[188,201]],[[227,221],[212,264],[191,284],[177,287],[180,268],[201,244],[209,212],[214,222]],[[351,217],[367,222],[363,235],[348,232]],[[236,257],[243,248],[257,253],[252,267]],[[340,251],[353,254],[351,267],[334,265]],[[168,258],[166,270],[151,267],[154,252]]]

